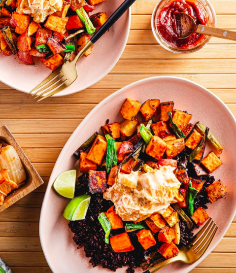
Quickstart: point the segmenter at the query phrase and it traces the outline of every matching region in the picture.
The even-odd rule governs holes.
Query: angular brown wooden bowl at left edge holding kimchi
[[[14,204],[34,189],[38,188],[43,184],[42,178],[39,176],[34,166],[31,164],[28,157],[25,155],[16,139],[12,136],[11,132],[4,125],[0,127],[0,140],[3,140],[7,144],[11,145],[20,157],[25,170],[26,170],[26,181],[22,186],[17,188],[13,193],[10,193],[4,200],[3,205],[0,206],[0,212],[6,209],[8,206]]]

